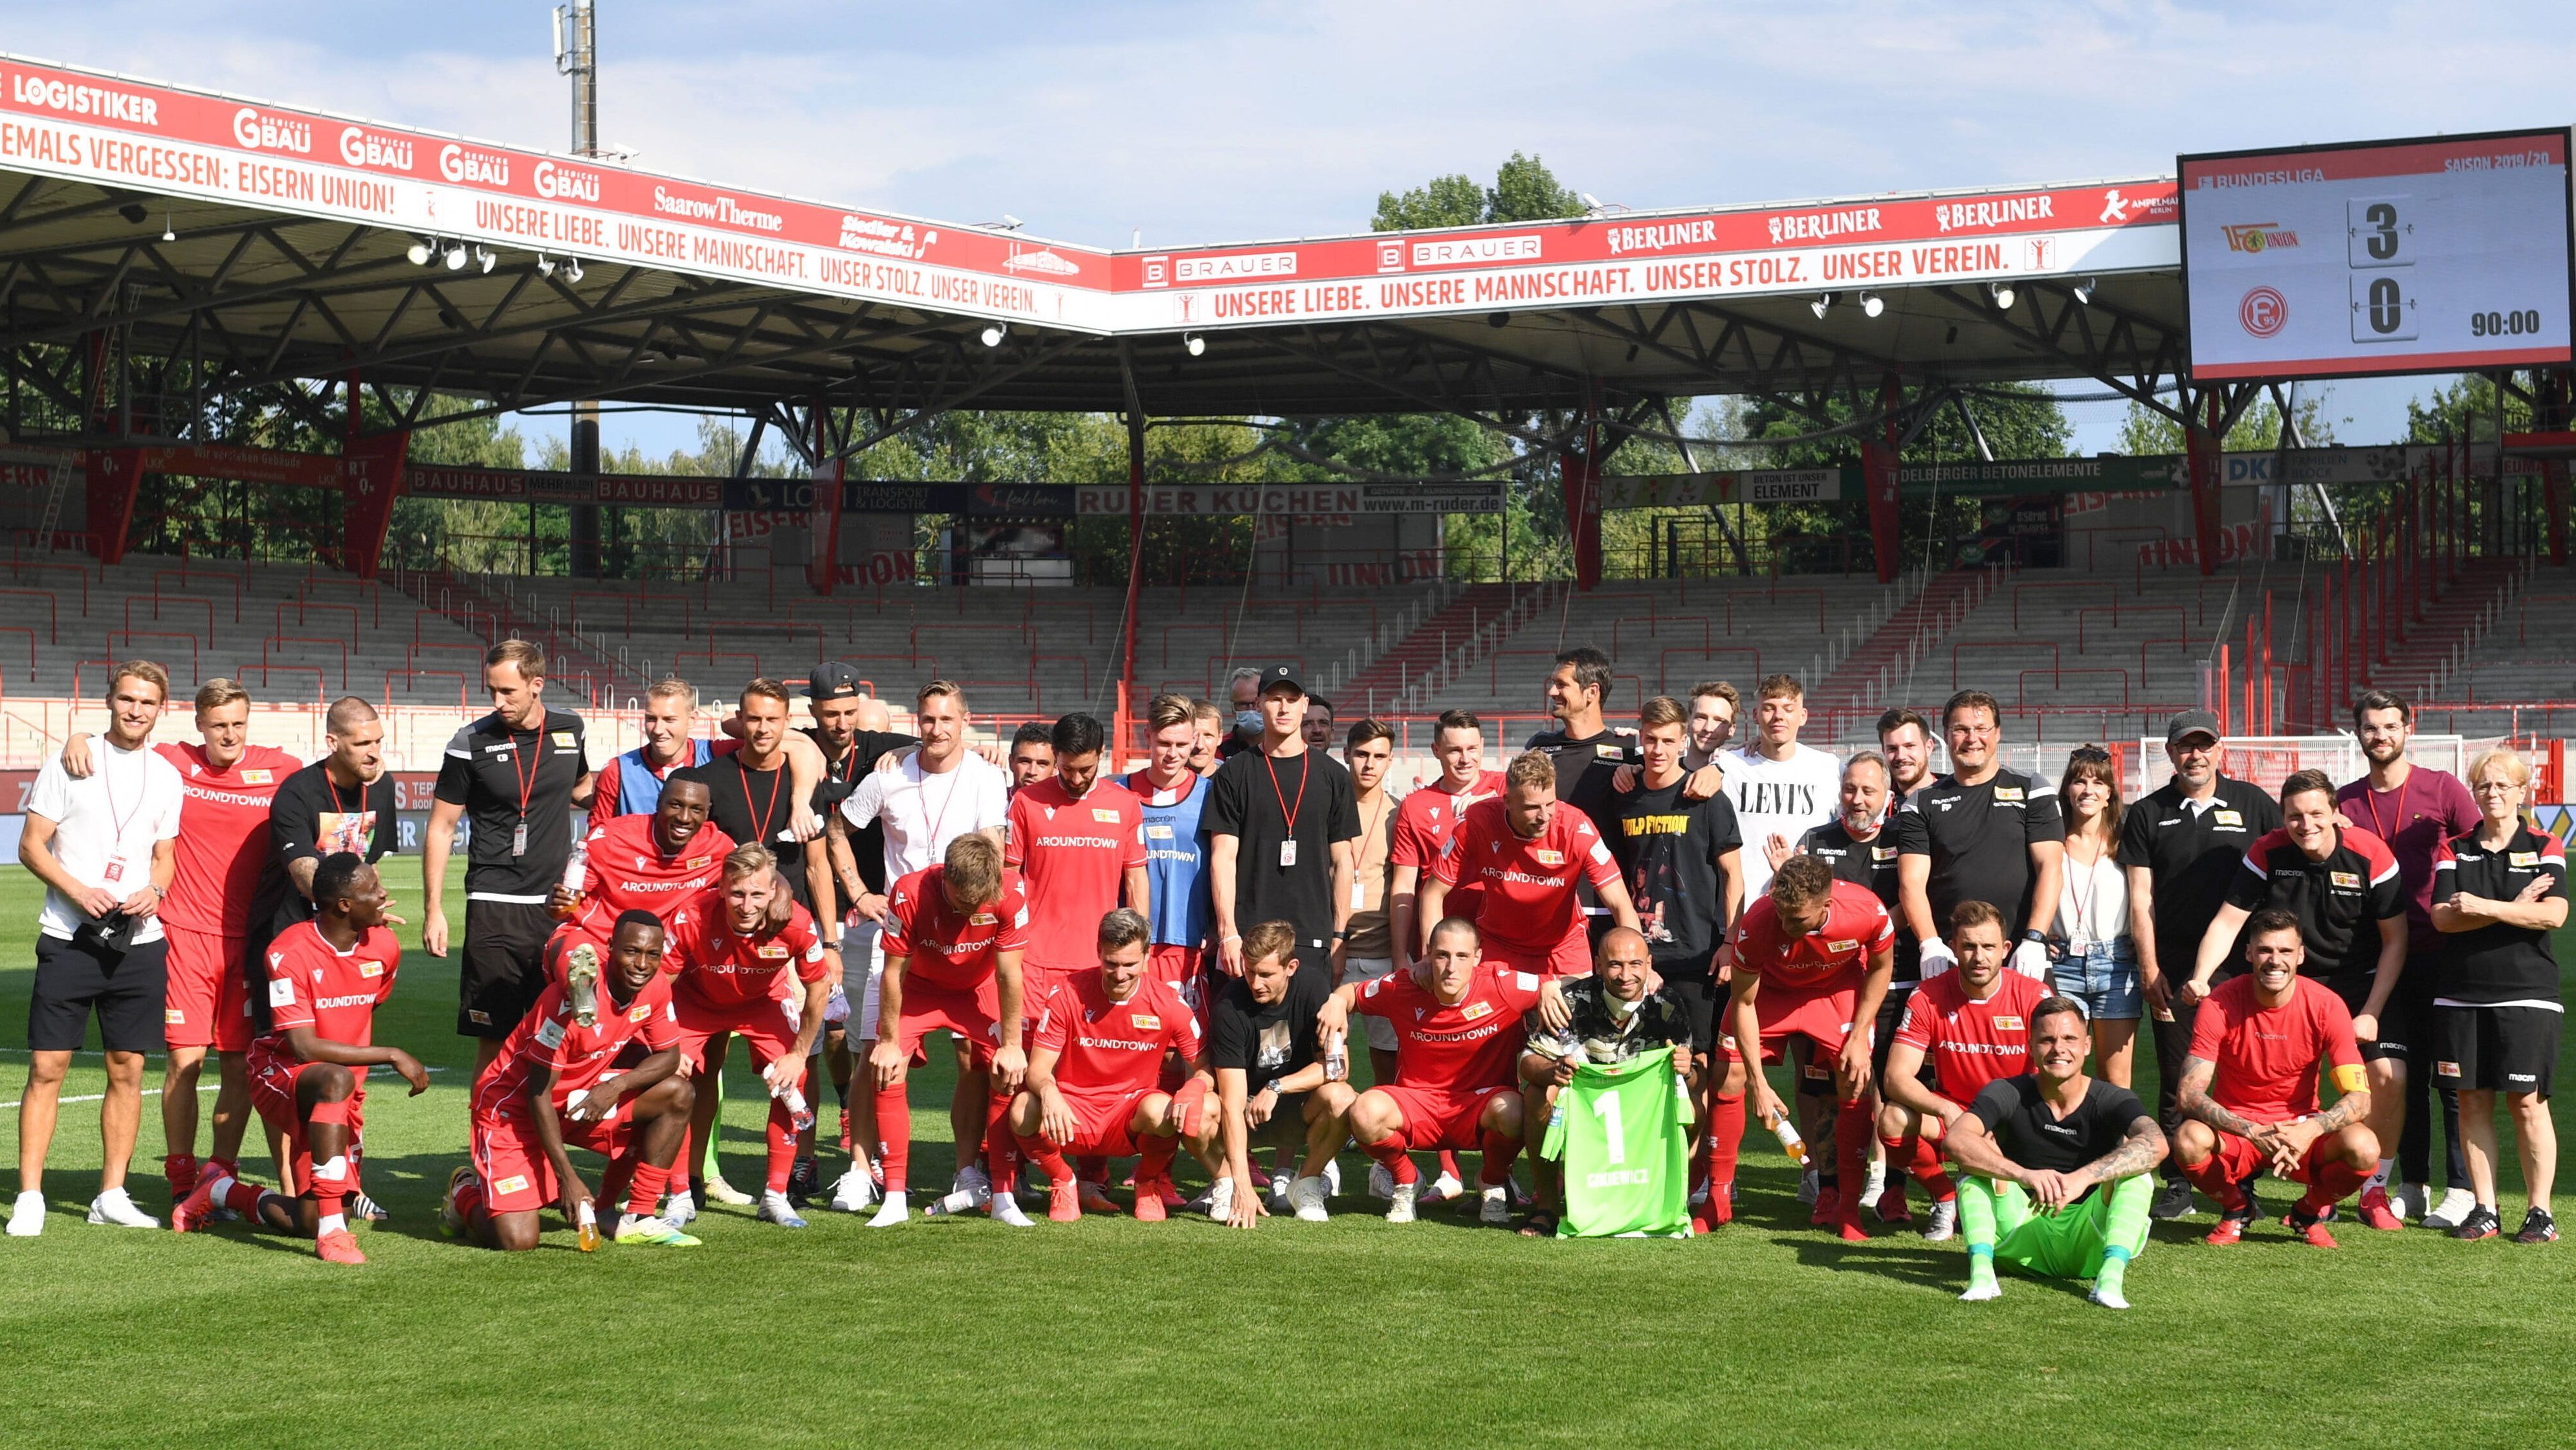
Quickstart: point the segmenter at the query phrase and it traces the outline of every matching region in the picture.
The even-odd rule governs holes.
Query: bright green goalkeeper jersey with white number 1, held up
[[[1672,1048],[1574,1069],[1546,1154],[1566,1169],[1561,1239],[1690,1234],[1690,1097]]]

